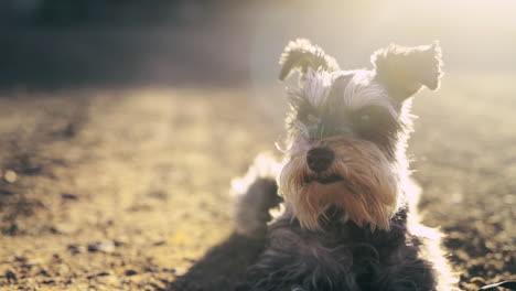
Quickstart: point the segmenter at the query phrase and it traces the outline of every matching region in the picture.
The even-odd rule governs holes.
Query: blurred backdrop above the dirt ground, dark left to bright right
[[[2,86],[271,84],[278,52],[312,39],[343,65],[390,42],[440,40],[448,71],[512,72],[514,1],[4,0]]]

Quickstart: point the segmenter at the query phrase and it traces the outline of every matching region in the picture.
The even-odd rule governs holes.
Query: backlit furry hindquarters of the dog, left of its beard
[[[238,234],[247,237],[264,236],[271,219],[269,209],[281,203],[276,176],[279,164],[273,158],[260,154],[244,177],[232,183],[237,196],[235,220]]]

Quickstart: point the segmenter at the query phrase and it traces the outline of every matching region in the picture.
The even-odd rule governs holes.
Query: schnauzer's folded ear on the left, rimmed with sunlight
[[[340,69],[335,58],[326,55],[321,47],[312,44],[305,39],[291,41],[284,47],[279,63],[281,65],[281,72],[279,75],[280,80],[284,80],[290,73],[295,69],[301,72],[301,76],[307,74],[309,68],[312,68],[313,71],[322,68],[329,72]]]

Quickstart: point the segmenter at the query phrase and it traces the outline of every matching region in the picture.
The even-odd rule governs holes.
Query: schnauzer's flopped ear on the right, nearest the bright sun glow
[[[431,90],[439,88],[441,79],[441,47],[438,42],[430,45],[405,47],[391,44],[370,56],[376,79],[389,94],[402,101],[422,86]]]

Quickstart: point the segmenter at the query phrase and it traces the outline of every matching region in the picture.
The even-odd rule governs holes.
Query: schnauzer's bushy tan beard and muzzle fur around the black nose
[[[291,153],[280,176],[280,190],[292,206],[302,227],[321,229],[336,206],[345,213],[340,219],[353,220],[372,229],[389,228],[396,211],[398,176],[374,143],[350,138],[330,138],[318,142],[335,153],[326,171],[316,174],[307,165],[307,151]]]

